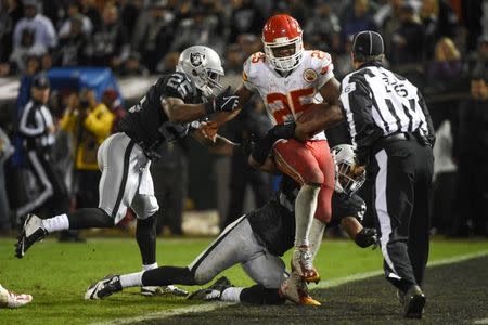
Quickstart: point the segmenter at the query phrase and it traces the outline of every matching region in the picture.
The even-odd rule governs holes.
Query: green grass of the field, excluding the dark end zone
[[[159,239],[158,263],[185,265],[210,240]],[[90,239],[87,244],[59,244],[48,239],[36,244],[22,260],[13,257],[13,238],[0,238],[0,283],[12,290],[31,294],[34,301],[24,309],[0,310],[0,324],[87,324],[197,303],[178,297],[145,298],[136,289],[103,301],[85,301],[85,290],[93,281],[108,273],[140,270],[139,249],[132,239]],[[488,240],[436,239],[431,246],[429,260],[480,251],[488,251]],[[348,240],[325,240],[316,266],[326,281],[381,270],[382,257],[378,249],[359,249]],[[235,285],[253,283],[239,266],[224,275]]]

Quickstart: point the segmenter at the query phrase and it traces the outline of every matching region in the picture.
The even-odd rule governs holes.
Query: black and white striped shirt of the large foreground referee
[[[341,103],[360,162],[382,136],[419,132],[433,139],[427,106],[407,78],[368,63],[347,75],[341,86]]]

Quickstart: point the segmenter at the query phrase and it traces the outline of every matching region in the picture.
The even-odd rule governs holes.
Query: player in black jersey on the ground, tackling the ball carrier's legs
[[[339,179],[337,179],[339,181]],[[357,190],[343,183],[345,192]],[[242,301],[254,304],[283,303],[280,292],[287,278],[285,264],[280,256],[293,247],[295,236],[294,200],[299,185],[284,177],[281,190],[262,208],[249,212],[230,224],[189,266],[160,266],[146,272],[111,275],[93,284],[86,299],[102,299],[123,288],[134,286],[163,286],[170,284],[202,285],[210,282],[224,270],[241,263],[257,285],[236,288],[219,280],[217,285],[193,295],[205,300]],[[360,247],[376,242],[374,230],[363,229],[359,221],[365,210],[364,202],[351,192],[335,193],[333,218],[330,225],[342,224]],[[317,251],[317,250],[316,250]],[[291,282],[286,298],[300,304],[320,304],[307,291],[305,283]]]

